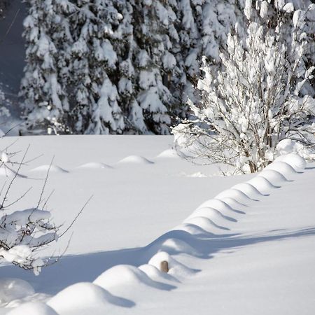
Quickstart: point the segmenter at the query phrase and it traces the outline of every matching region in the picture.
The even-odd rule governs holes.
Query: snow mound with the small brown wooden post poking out
[[[169,253],[165,251],[160,251],[153,255],[151,260],[149,260],[148,264],[153,265],[154,267],[160,269],[160,265],[162,261],[167,261],[169,265],[169,272],[171,276],[181,281],[181,279],[185,279],[187,276],[192,276],[197,272],[195,269],[191,269],[186,267],[185,265],[181,264],[181,262],[177,261],[176,259],[172,258]]]

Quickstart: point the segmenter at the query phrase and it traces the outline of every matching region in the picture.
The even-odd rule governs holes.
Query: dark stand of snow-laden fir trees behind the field
[[[281,20],[289,38],[301,13],[303,59],[314,64],[309,0],[26,2],[22,132],[167,134],[175,117],[190,117],[187,99],[200,101],[202,57],[223,70],[228,33],[247,18],[271,30]]]

